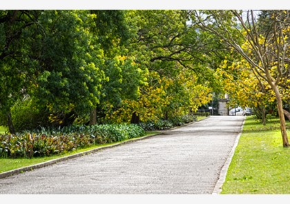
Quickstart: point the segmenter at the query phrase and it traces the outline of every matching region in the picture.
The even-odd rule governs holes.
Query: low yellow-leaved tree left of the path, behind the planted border
[[[148,72],[147,77],[148,82],[139,88],[138,100],[123,100],[119,109],[109,111],[107,120],[133,122],[135,116],[141,122],[171,120],[212,100],[212,89],[198,84],[190,70],[184,69],[175,78],[160,77],[155,71]]]

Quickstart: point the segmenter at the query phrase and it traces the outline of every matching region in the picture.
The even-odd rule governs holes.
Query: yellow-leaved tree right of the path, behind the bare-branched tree
[[[238,56],[226,57],[216,71],[218,79],[223,83],[224,91],[229,95],[229,106],[250,107],[257,118],[266,125],[267,108],[271,109],[275,95],[271,87],[249,69],[249,63]]]

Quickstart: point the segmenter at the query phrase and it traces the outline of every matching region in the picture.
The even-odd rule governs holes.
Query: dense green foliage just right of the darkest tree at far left
[[[66,22],[66,24],[64,24]],[[52,113],[84,115],[99,103],[103,51],[90,32],[94,16],[86,10],[47,10],[39,17],[46,37],[41,73],[33,94]]]

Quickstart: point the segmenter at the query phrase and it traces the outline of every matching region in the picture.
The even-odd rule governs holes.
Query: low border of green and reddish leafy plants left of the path
[[[119,142],[144,135],[144,129],[136,124],[71,126],[62,129],[26,131],[16,135],[0,134],[0,157],[51,156],[96,144]]]

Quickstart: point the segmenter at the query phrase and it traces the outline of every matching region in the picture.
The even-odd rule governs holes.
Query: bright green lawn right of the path
[[[278,119],[263,127],[247,116],[221,194],[290,194],[289,184],[290,148],[282,147]]]

